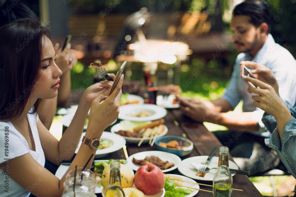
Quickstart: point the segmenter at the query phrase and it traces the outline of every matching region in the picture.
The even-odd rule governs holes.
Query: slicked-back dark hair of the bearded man
[[[270,13],[264,1],[244,1],[238,4],[233,10],[233,16],[247,15],[251,17],[250,23],[259,27],[265,22],[268,25],[268,32],[271,30]]]

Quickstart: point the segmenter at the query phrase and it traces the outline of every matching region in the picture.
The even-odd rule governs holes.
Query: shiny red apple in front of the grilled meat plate
[[[145,195],[160,193],[165,187],[165,176],[156,165],[142,165],[135,174],[135,186]]]

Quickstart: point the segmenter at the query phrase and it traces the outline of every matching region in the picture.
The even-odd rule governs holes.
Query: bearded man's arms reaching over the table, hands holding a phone
[[[240,69],[237,63],[234,66],[231,79],[224,90],[224,95],[212,101],[200,101],[180,98],[180,109],[182,112],[198,122],[210,122],[223,125],[233,130],[258,131],[258,122],[253,117],[252,112],[226,113],[233,110],[241,100],[238,92],[237,69]]]

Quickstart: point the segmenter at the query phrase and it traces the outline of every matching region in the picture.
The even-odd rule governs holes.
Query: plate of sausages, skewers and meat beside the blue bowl
[[[111,132],[123,136],[128,143],[136,144],[141,141],[143,136],[147,136],[144,137],[142,143],[148,143],[149,141],[151,142],[152,139],[164,136],[168,133],[168,127],[163,123],[163,119],[140,122],[123,120],[112,126]]]

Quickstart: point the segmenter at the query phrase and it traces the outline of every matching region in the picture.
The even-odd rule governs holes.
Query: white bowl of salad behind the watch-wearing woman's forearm
[[[81,145],[82,137],[85,135],[85,133],[86,132],[83,132],[81,135],[81,139],[79,141],[77,149],[75,150],[75,154],[77,154],[78,152],[78,149]],[[103,132],[100,141],[101,143],[96,151],[95,158],[105,157],[109,153],[118,151],[123,147],[123,145],[126,144],[126,140],[122,136],[108,131]]]

